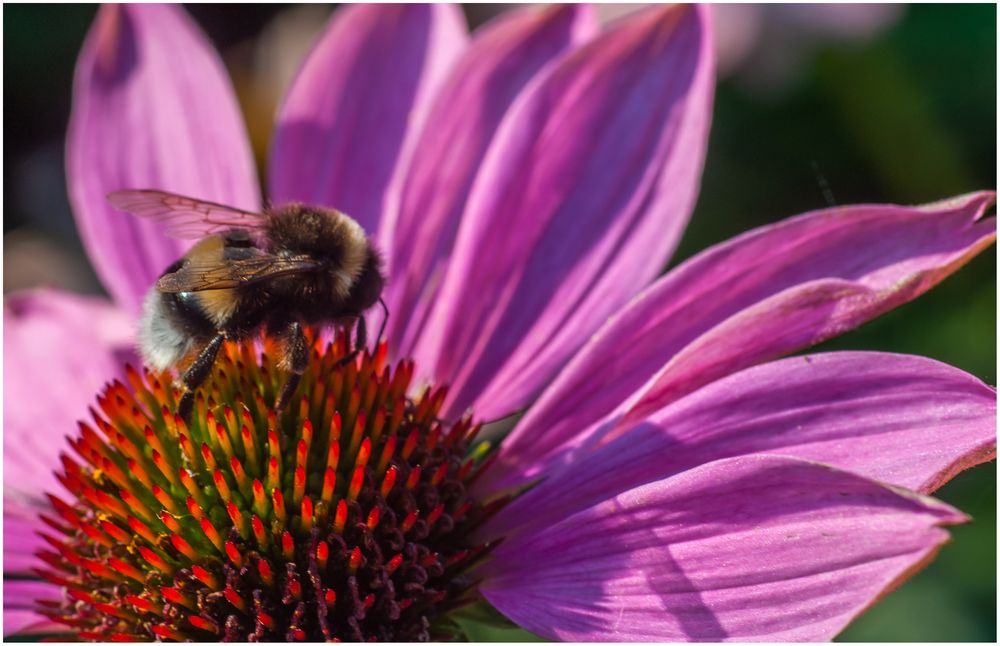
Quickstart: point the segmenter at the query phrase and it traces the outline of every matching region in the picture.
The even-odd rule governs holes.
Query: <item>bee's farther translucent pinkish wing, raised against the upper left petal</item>
[[[261,213],[151,189],[115,191],[108,194],[108,202],[120,211],[165,224],[166,234],[174,238],[204,238],[229,229],[259,235],[267,224]]]

